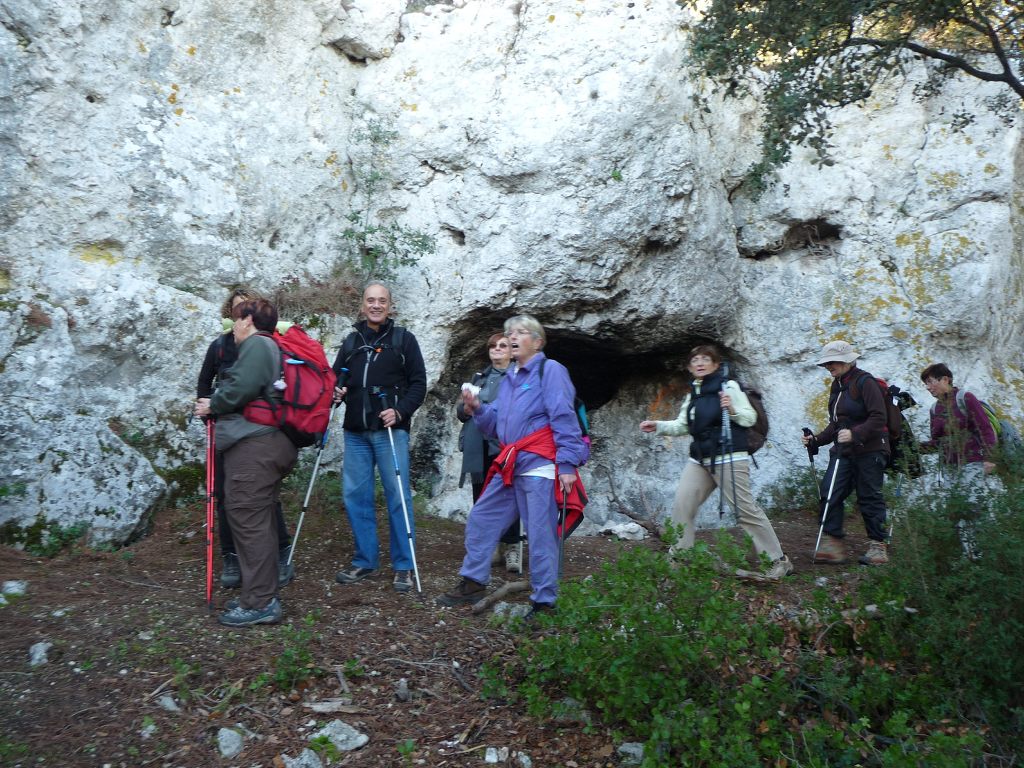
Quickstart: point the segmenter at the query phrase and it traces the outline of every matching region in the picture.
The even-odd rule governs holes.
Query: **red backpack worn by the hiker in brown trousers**
[[[316,442],[331,419],[335,375],[324,347],[298,326],[270,337],[281,348],[285,389],[281,400],[260,398],[245,407],[242,416],[255,424],[279,427],[297,447]]]

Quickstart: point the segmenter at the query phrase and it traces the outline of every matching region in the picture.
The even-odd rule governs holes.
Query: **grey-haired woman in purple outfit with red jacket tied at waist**
[[[554,607],[558,595],[558,505],[555,485],[569,494],[577,468],[590,456],[572,402],[568,371],[544,352],[547,336],[528,314],[505,323],[512,367],[493,402],[463,392],[466,413],[485,437],[497,437],[501,471],[488,475],[466,522],[462,581],[437,598],[440,605],[473,603],[490,581],[490,555],[501,532],[518,517],[529,541],[530,614]]]

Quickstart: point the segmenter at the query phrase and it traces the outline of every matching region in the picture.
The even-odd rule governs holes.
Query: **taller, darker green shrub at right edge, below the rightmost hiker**
[[[1024,496],[1019,482],[972,502],[932,493],[897,518],[890,567],[871,570],[864,602],[893,601],[865,628],[865,652],[942,688],[947,716],[996,735],[1024,726]],[[965,553],[957,525],[973,538]]]

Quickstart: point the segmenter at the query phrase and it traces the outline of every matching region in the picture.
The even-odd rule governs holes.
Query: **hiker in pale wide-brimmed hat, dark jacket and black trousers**
[[[860,352],[843,339],[829,341],[818,354],[816,366],[833,377],[828,393],[828,425],[815,435],[804,435],[810,451],[833,443],[828,470],[821,479],[824,536],[814,552],[815,562],[846,562],[843,538],[843,505],[853,490],[864,518],[870,545],[859,558],[864,565],[889,562],[886,502],[882,483],[892,450],[886,427],[886,393],[878,380],[857,368]]]

